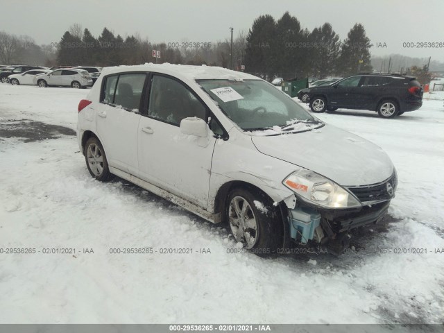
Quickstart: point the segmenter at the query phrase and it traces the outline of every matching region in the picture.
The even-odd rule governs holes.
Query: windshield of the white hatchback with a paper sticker
[[[321,123],[262,80],[198,80],[219,108],[243,130],[304,131]],[[304,126],[296,124],[304,123]]]

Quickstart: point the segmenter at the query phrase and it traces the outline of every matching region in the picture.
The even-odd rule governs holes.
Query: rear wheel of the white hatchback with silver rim
[[[83,155],[85,155],[86,167],[92,177],[101,182],[106,182],[112,178],[108,160],[106,160],[105,151],[99,139],[90,137],[85,144]]]

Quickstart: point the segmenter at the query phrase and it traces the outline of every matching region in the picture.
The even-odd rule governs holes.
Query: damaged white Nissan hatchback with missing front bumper
[[[258,254],[341,249],[395,196],[381,148],[309,114],[266,81],[220,67],[108,67],[78,105],[97,180],[112,175],[214,223]]]

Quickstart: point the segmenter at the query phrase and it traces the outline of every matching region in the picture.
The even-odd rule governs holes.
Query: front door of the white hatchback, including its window
[[[145,112],[137,133],[140,176],[205,209],[216,139],[211,132],[184,135],[179,127],[187,117],[207,119],[205,104],[182,82],[154,74]]]

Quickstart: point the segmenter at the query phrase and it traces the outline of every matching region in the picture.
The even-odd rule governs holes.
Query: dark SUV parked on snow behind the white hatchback
[[[422,106],[422,87],[413,76],[397,74],[355,74],[334,85],[309,91],[313,112],[338,108],[371,110],[392,118]]]

